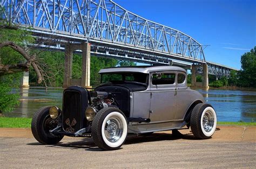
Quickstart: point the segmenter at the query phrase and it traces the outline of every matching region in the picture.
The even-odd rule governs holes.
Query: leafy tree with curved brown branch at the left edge
[[[28,71],[30,65],[37,73],[38,83],[44,80],[41,67],[36,62],[36,55],[31,55],[26,46],[34,41],[34,38],[27,30],[20,29],[18,25],[12,24],[11,21],[3,18],[3,9],[0,8],[0,50],[2,51],[0,62],[0,76]],[[8,51],[7,53],[5,53]],[[19,55],[10,55],[15,53]],[[8,62],[6,62],[8,60]],[[24,62],[25,61],[25,62]],[[18,63],[17,63],[18,62]]]

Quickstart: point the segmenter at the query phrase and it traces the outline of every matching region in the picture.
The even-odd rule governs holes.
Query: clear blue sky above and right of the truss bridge
[[[207,46],[206,60],[240,69],[256,46],[256,0],[113,0],[151,21],[170,26]]]

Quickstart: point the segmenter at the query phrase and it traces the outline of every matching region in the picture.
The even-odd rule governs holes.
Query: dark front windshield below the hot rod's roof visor
[[[137,82],[147,84],[146,73],[120,72],[120,73],[102,73],[101,83],[124,83]]]

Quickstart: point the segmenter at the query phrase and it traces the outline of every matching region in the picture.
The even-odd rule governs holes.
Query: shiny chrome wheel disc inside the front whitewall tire
[[[123,134],[124,126],[122,120],[119,117],[110,117],[107,119],[104,134],[107,140],[110,142],[116,142]]]

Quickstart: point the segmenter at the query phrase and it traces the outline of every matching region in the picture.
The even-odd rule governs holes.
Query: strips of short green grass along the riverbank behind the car
[[[30,128],[31,118],[19,117],[0,117],[0,127],[3,128]],[[256,122],[223,122],[219,121],[218,125],[232,125],[232,126],[256,126]]]

